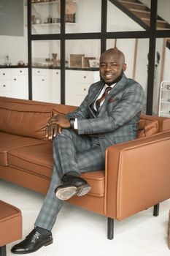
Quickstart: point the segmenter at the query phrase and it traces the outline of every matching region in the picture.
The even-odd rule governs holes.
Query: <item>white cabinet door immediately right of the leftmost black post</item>
[[[32,70],[32,99],[40,102],[50,102],[50,86],[48,83],[48,70]]]

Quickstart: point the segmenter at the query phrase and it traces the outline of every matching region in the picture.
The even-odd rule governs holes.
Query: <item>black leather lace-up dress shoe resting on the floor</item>
[[[53,243],[52,233],[49,231],[46,235],[42,235],[39,232],[34,230],[29,233],[26,238],[20,242],[20,244],[15,244],[12,247],[11,252],[23,255],[26,253],[36,252],[42,246],[47,246]]]

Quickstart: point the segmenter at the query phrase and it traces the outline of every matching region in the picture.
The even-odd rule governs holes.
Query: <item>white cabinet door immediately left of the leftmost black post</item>
[[[11,69],[11,97],[28,99],[28,69]]]

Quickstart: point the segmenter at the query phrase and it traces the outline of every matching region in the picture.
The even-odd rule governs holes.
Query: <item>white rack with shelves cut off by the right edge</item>
[[[164,80],[161,82],[159,116],[170,117],[170,80]]]

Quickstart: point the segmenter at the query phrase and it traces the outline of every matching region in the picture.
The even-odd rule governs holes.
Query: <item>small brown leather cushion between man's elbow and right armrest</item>
[[[158,129],[157,120],[153,120],[150,116],[141,117],[138,123],[138,138],[154,135],[158,132]]]

